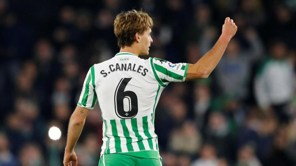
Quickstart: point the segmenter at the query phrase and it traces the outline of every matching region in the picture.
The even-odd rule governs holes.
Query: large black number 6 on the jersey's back
[[[132,78],[120,79],[114,94],[115,113],[119,118],[130,119],[138,113],[138,98],[133,91],[124,91]]]

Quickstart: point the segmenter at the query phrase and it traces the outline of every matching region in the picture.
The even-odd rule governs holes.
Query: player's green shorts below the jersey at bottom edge
[[[162,166],[162,159],[140,158],[123,153],[102,154],[99,166]]]

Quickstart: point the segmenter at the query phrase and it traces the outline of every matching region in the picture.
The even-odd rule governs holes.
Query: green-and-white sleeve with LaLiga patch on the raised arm
[[[173,64],[159,58],[149,58],[155,79],[163,87],[170,82],[184,82],[187,74],[187,63]]]

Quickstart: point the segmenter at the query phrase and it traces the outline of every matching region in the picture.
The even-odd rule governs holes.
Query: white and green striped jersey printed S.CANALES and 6
[[[157,102],[170,82],[185,81],[187,67],[121,52],[89,69],[78,105],[93,109],[99,101],[104,121],[101,154],[158,152]]]

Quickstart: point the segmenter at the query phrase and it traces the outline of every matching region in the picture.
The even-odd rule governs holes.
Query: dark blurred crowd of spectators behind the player
[[[295,0],[0,0],[0,166],[62,165],[86,73],[119,52],[113,21],[131,9],[153,18],[149,56],[173,63],[196,63],[225,17],[238,27],[209,78],[163,91],[155,132],[164,166],[296,165]],[[97,165],[101,152],[99,107],[89,114],[80,166]]]

